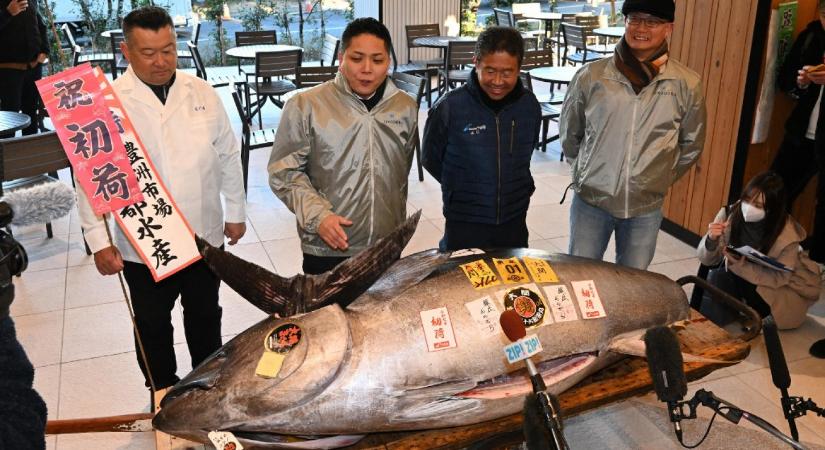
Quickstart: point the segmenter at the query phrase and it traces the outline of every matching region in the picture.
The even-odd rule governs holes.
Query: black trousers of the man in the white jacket
[[[172,327],[172,308],[178,296],[183,306],[183,327],[192,367],[197,367],[220,348],[220,279],[209,270],[206,263],[198,261],[160,283],[155,283],[149,268],[144,264],[124,261],[123,275],[129,284],[135,321],[157,389],[172,386],[180,380],[176,375]],[[138,349],[137,337],[135,348]],[[137,360],[146,379],[146,386],[151,386],[139,349]]]

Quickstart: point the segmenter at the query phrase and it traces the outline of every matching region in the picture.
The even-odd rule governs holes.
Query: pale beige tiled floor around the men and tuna
[[[540,83],[537,83],[540,85]],[[227,106],[231,98],[226,89],[221,95]],[[228,109],[239,129],[234,109]],[[422,110],[422,123],[426,112]],[[270,107],[265,125],[276,126],[278,113]],[[247,235],[230,250],[277,273],[290,276],[300,270],[300,248],[295,222],[288,209],[278,201],[266,183],[267,150],[252,153],[250,163],[249,220]],[[567,202],[559,199],[568,184],[566,163],[559,162],[558,143],[548,153],[536,152],[533,158],[536,193],[533,195],[527,222],[530,245],[553,252],[564,252],[568,239]],[[61,174],[66,179],[66,174]],[[444,226],[441,216],[439,185],[427,176],[423,182],[410,175],[409,211],[423,210],[418,230],[405,250],[410,254],[437,245]],[[17,299],[12,305],[20,340],[36,366],[35,387],[48,404],[50,419],[129,414],[148,410],[148,395],[135,363],[131,324],[117,278],[102,277],[92,258],[83,252],[77,214],[54,223],[55,237],[45,238],[43,227],[15,230],[26,247],[30,265],[15,280]],[[613,251],[608,251],[608,259]],[[660,233],[656,257],[650,270],[673,279],[694,274],[698,262],[693,248]],[[230,289],[221,290],[224,307],[225,340],[256,323],[264,314],[245,302]],[[190,367],[182,333],[180,310],[175,314],[175,342],[180,375]],[[791,394],[804,395],[825,405],[825,360],[810,357],[810,344],[825,337],[825,302],[811,310],[809,319],[799,329],[783,332],[782,341],[789,361],[793,385]],[[719,370],[691,384],[713,390],[738,406],[751,410],[787,432],[779,408],[779,394],[770,380],[764,344],[753,342],[747,360]],[[653,395],[640,400],[660,407]],[[611,417],[617,424],[631,424],[624,434],[633,435],[627,442],[643,443],[649,448],[675,447],[675,441],[646,440],[644,427],[634,429],[634,415],[640,414],[634,403],[613,408]],[[662,414],[664,409],[660,408]],[[577,419],[599,421],[604,415],[585,415]],[[595,423],[595,422],[594,422]],[[624,426],[624,425],[618,425]],[[799,421],[803,440],[825,445],[825,419],[805,417]],[[584,428],[586,429],[586,427]],[[635,435],[634,435],[635,433]],[[698,431],[697,431],[698,433]],[[698,435],[686,435],[695,442]],[[653,439],[651,437],[651,439]],[[655,445],[653,444],[655,442]],[[632,444],[627,444],[633,447]],[[735,443],[730,448],[737,448]],[[48,448],[59,450],[153,448],[149,433],[109,433],[61,435],[48,437]]]

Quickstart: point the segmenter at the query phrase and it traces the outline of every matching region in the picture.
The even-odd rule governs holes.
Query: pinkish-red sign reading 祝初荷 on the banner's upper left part
[[[118,128],[88,64],[37,81],[74,175],[95,214],[142,201]]]

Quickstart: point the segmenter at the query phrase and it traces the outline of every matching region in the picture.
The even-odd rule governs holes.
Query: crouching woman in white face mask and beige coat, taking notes
[[[796,328],[808,308],[819,299],[819,266],[802,253],[805,230],[789,216],[785,187],[773,172],[756,175],[742,197],[723,207],[699,243],[702,264],[715,267],[708,281],[743,300],[760,316],[773,314],[780,329]],[[749,245],[793,269],[764,267],[729,252],[726,247]],[[705,299],[702,313],[717,323],[733,319],[719,305]]]

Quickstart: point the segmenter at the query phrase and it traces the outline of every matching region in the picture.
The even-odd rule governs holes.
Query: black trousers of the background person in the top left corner
[[[0,69],[0,110],[22,112],[32,119],[31,125],[23,129],[23,135],[35,134],[37,128],[37,99],[40,94],[34,82],[42,78],[43,68],[38,64],[28,70]],[[0,135],[0,138],[13,137]]]

